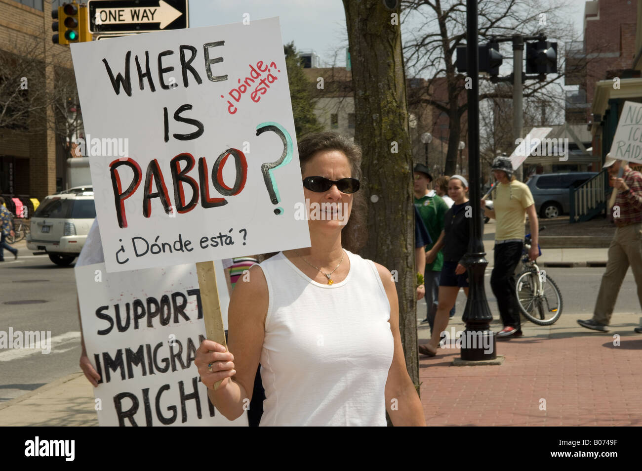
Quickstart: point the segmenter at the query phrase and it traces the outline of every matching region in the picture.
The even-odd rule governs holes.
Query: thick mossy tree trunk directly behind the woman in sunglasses
[[[390,2],[386,2],[390,3]],[[419,391],[412,143],[401,52],[399,2],[343,0],[352,62],[355,141],[363,150],[368,244],[361,251],[392,272],[406,366]]]

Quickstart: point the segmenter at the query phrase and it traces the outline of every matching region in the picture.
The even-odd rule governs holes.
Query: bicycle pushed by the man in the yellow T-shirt
[[[541,227],[539,230],[543,229],[546,227]],[[562,315],[564,301],[555,281],[546,271],[539,269],[535,260],[528,260],[531,244],[530,234],[528,234],[522,251],[522,271],[517,276],[517,301],[526,319],[537,325],[551,325]],[[537,249],[541,255],[539,245]]]

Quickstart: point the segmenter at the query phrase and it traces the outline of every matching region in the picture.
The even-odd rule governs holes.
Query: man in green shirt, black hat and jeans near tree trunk
[[[435,190],[428,190],[428,184],[433,181],[433,177],[430,175],[427,166],[424,164],[415,165],[413,177],[415,179],[413,187],[415,193],[415,208],[419,211],[432,241],[426,245],[426,252],[428,252],[433,248],[441,231],[444,229],[444,215],[446,215],[446,211],[448,211],[448,205],[437,195]],[[426,319],[424,319],[422,323],[429,324],[431,333],[435,322],[435,314],[437,313],[439,279],[443,264],[444,255],[440,251],[431,263],[428,263],[428,260],[426,260],[426,270],[424,271],[424,286],[426,287],[426,305],[428,312],[426,313]]]

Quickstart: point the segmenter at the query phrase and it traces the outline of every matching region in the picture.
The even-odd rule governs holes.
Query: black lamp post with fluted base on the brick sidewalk
[[[483,248],[483,222],[480,207],[480,134],[479,134],[479,58],[477,35],[477,0],[466,0],[467,72],[471,78],[468,96],[468,173],[473,217],[469,221],[471,239],[462,263],[467,267],[470,289],[464,309],[466,324],[462,339],[462,360],[497,358],[494,332],[490,330],[492,314],[484,290],[484,272],[488,265]]]

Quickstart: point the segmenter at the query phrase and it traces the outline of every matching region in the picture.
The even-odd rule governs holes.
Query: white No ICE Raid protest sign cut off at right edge
[[[642,163],[642,103],[624,102],[611,143],[611,157]]]

